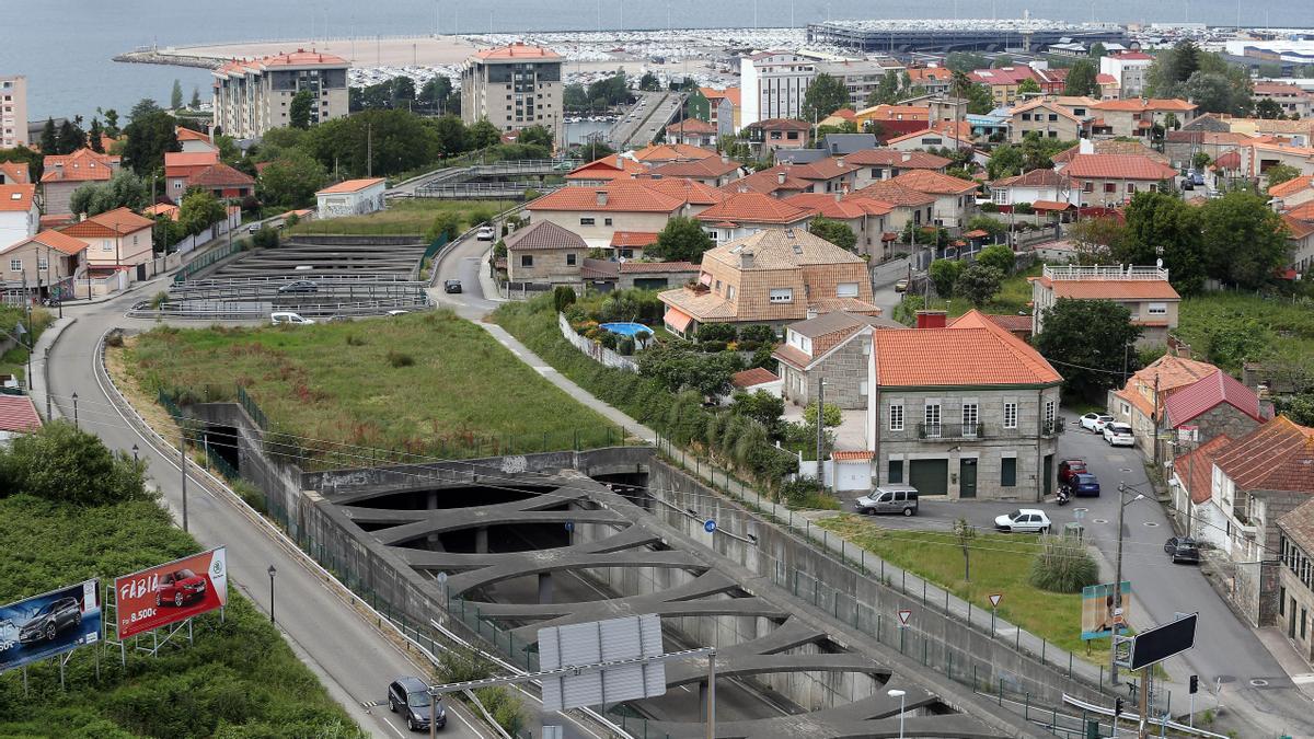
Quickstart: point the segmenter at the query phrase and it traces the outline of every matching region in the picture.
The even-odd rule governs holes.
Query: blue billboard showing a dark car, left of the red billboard
[[[0,606],[0,672],[100,640],[100,580]]]

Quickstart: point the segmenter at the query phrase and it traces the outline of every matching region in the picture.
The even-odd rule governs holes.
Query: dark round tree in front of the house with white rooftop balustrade
[[[1045,309],[1043,321],[1045,330],[1033,339],[1035,348],[1055,364],[1074,396],[1102,401],[1120,384],[1127,346],[1141,335],[1131,310],[1112,300],[1060,297]]]

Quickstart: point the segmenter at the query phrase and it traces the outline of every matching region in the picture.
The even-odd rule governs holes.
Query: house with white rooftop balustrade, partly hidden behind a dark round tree
[[[1142,329],[1138,346],[1163,346],[1177,327],[1181,296],[1168,284],[1168,270],[1163,267],[1045,267],[1030,281],[1035,334],[1045,330],[1045,313],[1064,297],[1122,304],[1131,312],[1131,322]]]

